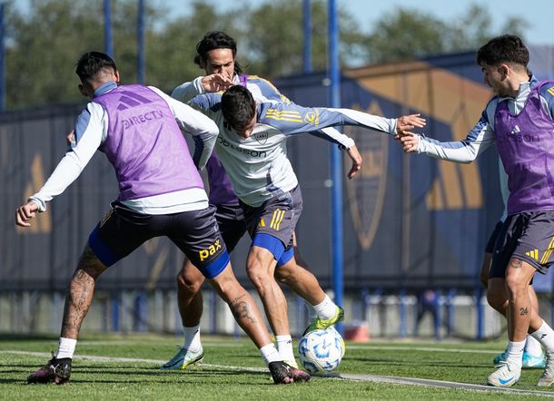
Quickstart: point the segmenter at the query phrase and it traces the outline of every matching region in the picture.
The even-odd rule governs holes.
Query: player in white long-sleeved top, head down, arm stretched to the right
[[[424,121],[417,115],[397,121],[349,109],[257,104],[252,93],[242,85],[232,86],[223,95],[196,96],[191,104],[219,127],[215,147],[244,210],[252,238],[246,271],[262,298],[266,315],[274,319],[270,323],[273,332],[279,334],[287,320],[286,301],[273,279],[273,272],[282,255],[292,251],[292,232],[302,212],[302,193],[287,158],[287,138],[296,133],[318,131],[328,141],[348,148],[352,161],[348,177],[352,178],[360,169],[361,158],[350,138],[328,134],[322,128],[352,124],[394,134],[423,126]],[[203,152],[211,149],[205,143],[197,142],[197,146]],[[275,322],[282,326],[278,327]]]

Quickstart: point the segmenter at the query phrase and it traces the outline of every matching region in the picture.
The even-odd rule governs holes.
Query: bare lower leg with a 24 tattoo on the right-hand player
[[[506,270],[506,291],[508,295],[508,335],[510,341],[524,341],[531,319],[529,282],[536,269],[520,259],[509,259]]]

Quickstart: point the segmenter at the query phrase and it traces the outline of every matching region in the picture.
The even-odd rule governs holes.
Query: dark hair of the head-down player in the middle
[[[252,121],[256,102],[252,93],[242,85],[234,85],[222,96],[223,118],[233,129],[242,131]]]

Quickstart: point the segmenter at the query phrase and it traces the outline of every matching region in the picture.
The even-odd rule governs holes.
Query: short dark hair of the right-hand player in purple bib
[[[496,36],[477,51],[477,64],[498,65],[500,63],[529,64],[529,50],[515,34]]]

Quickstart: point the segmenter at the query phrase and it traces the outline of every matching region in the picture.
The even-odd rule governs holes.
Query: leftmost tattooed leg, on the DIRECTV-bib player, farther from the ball
[[[79,336],[81,324],[93,300],[94,284],[105,269],[87,244],[67,289],[60,337],[76,339]]]

